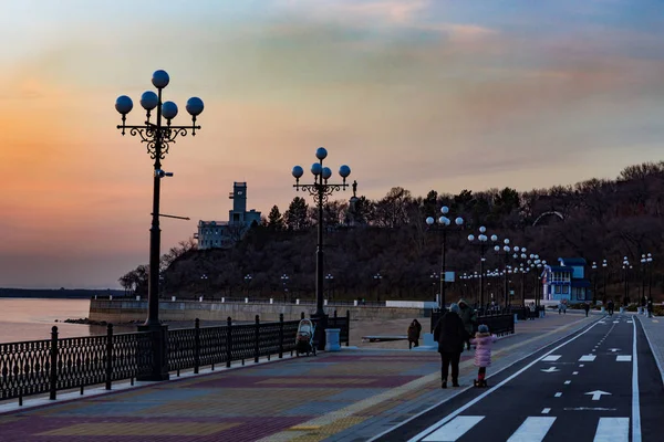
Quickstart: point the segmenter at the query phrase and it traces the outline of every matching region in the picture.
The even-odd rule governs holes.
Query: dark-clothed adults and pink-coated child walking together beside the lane
[[[460,299],[452,304],[434,327],[434,339],[438,343],[442,367],[442,388],[447,388],[447,377],[452,366],[452,386],[459,387],[459,361],[464,347],[470,350],[475,345],[475,366],[478,367],[476,387],[487,387],[487,367],[491,365],[491,346],[497,337],[489,333],[489,327],[480,324],[474,334],[477,313]]]

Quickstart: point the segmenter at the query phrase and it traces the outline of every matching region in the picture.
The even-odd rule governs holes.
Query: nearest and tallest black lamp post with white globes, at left
[[[168,379],[168,361],[166,359],[166,333],[168,326],[159,323],[159,254],[162,231],[159,229],[159,185],[164,177],[173,173],[162,170],[162,160],[166,158],[168,148],[178,136],[186,136],[190,129],[196,135],[196,117],[203,112],[203,101],[191,97],[187,101],[187,112],[191,115],[190,126],[174,126],[172,119],[177,115],[177,105],[173,102],[162,102],[162,91],[168,85],[169,77],[165,71],[155,71],[152,77],[153,85],[157,88],[144,92],[141,96],[141,106],[146,110],[146,119],[143,125],[127,126],[126,116],[134,103],[126,95],[121,95],[115,101],[115,109],[122,115],[122,135],[129,129],[132,136],[139,136],[141,143],[145,143],[147,154],[154,159],[153,179],[153,211],[152,225],[149,229],[149,280],[147,286],[148,313],[145,324],[138,326],[139,330],[152,332],[153,336],[153,367],[149,373],[137,378],[138,380],[166,380]],[[156,108],[155,122],[151,122],[151,113]]]

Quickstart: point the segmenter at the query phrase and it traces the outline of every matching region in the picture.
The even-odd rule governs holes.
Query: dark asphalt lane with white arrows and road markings
[[[661,375],[641,325],[627,315],[605,316],[488,382],[374,440],[664,440]]]

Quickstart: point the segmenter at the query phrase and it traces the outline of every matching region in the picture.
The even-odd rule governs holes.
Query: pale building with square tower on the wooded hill
[[[247,211],[246,182],[234,182],[228,198],[232,200],[228,221],[198,221],[198,233],[194,238],[198,240],[199,250],[229,248],[247,233],[251,223],[260,223],[260,212]]]

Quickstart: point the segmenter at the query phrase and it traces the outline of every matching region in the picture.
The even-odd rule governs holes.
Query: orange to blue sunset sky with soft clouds
[[[660,160],[663,29],[661,0],[2,1],[0,287],[118,287],[147,263],[152,160],[114,103],[141,124],[155,70],[176,124],[206,105],[163,165],[162,212],[191,218],[162,221],[164,251],[226,220],[234,181],[286,210],[318,146],[373,199]]]

